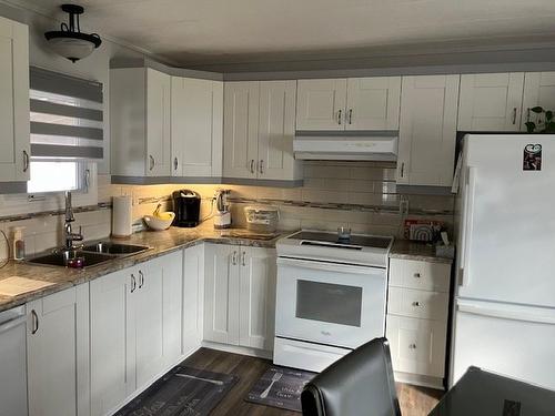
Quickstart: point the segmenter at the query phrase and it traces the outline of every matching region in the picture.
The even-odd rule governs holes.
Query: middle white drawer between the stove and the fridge
[[[443,292],[390,287],[387,313],[425,319],[447,319],[448,295]]]

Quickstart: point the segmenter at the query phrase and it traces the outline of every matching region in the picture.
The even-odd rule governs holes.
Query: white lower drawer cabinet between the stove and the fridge
[[[400,382],[442,387],[451,265],[390,260],[386,337]]]

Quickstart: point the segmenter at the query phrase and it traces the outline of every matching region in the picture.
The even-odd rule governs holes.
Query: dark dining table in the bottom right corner
[[[555,416],[555,392],[470,367],[428,416]]]

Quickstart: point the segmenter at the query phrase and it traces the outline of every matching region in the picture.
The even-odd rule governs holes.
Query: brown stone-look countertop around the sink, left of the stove
[[[0,312],[196,244],[208,242],[275,247],[276,240],[286,234],[290,233],[278,233],[274,234],[272,239],[266,240],[260,239],[256,234],[250,233],[244,229],[214,230],[212,222],[206,222],[194,229],[170,227],[167,231],[160,232],[143,231],[131,235],[129,239],[112,239],[112,241],[118,243],[148,245],[151,248],[143,253],[129,255],[122,258],[117,257],[109,262],[82,270],[10,261],[4,267],[0,268],[0,281],[11,276],[18,276],[53,284],[19,296],[0,295]]]

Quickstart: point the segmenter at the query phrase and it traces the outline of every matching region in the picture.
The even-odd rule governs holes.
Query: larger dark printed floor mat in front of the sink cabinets
[[[176,366],[115,415],[204,416],[238,381],[235,375]]]

